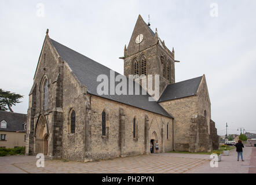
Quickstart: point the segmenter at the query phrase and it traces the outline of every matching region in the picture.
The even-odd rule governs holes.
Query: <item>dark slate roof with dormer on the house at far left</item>
[[[0,110],[0,122],[7,122],[6,128],[0,128],[0,131],[25,132],[24,123],[27,121],[27,114],[6,112]]]

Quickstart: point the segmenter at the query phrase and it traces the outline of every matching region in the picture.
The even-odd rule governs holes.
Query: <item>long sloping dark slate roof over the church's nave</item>
[[[67,64],[72,69],[72,72],[74,73],[74,75],[78,78],[79,82],[81,82],[81,84],[83,84],[84,86],[87,87],[87,91],[90,94],[97,95],[99,97],[103,97],[103,98],[107,98],[107,99],[111,99],[112,101],[125,103],[126,105],[130,105],[130,106],[134,106],[134,107],[137,107],[140,109],[148,110],[149,112],[158,113],[163,116],[173,117],[169,113],[167,113],[166,110],[164,110],[162,108],[162,106],[160,106],[158,104],[158,102],[148,101],[148,98],[150,97],[149,94],[147,94],[147,95],[110,95],[110,93],[108,93],[108,95],[99,95],[97,93],[97,86],[101,82],[97,82],[97,77],[98,77],[98,75],[102,75],[102,74],[107,75],[108,80],[110,82],[109,73],[110,73],[111,69],[107,68],[104,65],[101,65],[100,63],[98,63],[96,61],[93,61],[92,59],[90,59],[86,56],[83,56],[82,54],[80,54],[64,45],[61,45],[60,43],[56,42],[53,39],[50,39],[50,40],[51,40],[53,46],[56,48],[60,57],[65,62],[67,62]],[[117,76],[117,75],[120,75],[120,74],[115,72],[115,76]],[[123,77],[125,77],[125,76],[123,76]],[[126,78],[126,79],[130,80],[128,78]],[[116,84],[118,84],[118,83],[119,82],[115,83],[115,87],[116,87]],[[132,81],[132,83],[134,86],[134,84],[136,82]],[[129,90],[128,85],[129,85],[129,83],[127,83],[127,92]],[[142,87],[140,86],[140,92],[141,92],[141,88]],[[108,91],[110,91],[110,88]],[[134,88],[133,88],[133,91],[134,91]],[[135,93],[133,93],[133,94],[135,94]]]

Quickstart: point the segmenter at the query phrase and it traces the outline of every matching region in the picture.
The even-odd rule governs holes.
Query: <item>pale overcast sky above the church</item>
[[[218,17],[211,13],[218,5]],[[214,6],[215,8],[216,6]],[[123,74],[123,48],[138,14],[171,50],[176,82],[206,75],[218,134],[256,133],[256,1],[10,1],[0,0],[0,88],[28,93],[46,29],[50,38]],[[215,9],[214,9],[215,10]],[[217,14],[214,14],[215,16]]]

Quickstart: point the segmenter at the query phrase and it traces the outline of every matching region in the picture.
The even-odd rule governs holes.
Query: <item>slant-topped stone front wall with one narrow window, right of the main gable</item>
[[[70,67],[64,65],[63,77],[63,157],[83,161],[86,153],[86,87],[81,86]],[[70,132],[71,110],[75,111],[75,133]]]

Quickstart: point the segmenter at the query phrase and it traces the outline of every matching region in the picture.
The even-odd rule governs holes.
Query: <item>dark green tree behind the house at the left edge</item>
[[[16,103],[20,103],[20,98],[23,98],[23,95],[16,94],[10,91],[5,91],[0,88],[0,110],[5,111],[9,109],[10,112],[13,112],[12,106],[15,106]]]

